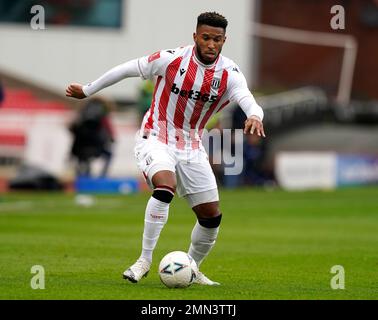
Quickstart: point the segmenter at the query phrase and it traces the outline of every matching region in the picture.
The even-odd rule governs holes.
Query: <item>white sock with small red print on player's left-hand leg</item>
[[[152,261],[152,253],[159,240],[160,232],[168,220],[169,203],[151,197],[144,216],[144,231],[141,257]]]

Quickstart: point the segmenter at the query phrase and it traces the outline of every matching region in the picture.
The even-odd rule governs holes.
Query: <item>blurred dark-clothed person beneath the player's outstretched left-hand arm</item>
[[[77,161],[78,176],[90,176],[91,162],[97,158],[104,162],[100,176],[108,174],[115,141],[109,118],[110,110],[109,101],[92,98],[83,106],[69,128],[74,137],[71,155]]]

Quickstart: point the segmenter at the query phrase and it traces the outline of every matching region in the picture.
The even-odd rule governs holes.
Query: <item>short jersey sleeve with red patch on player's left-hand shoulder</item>
[[[149,56],[138,59],[139,75],[142,79],[163,76],[170,62],[176,56],[174,49],[157,51]]]

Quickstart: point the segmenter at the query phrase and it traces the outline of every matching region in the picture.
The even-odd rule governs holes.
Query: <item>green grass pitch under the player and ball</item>
[[[194,214],[175,198],[147,278],[121,277],[139,256],[149,194],[0,196],[0,299],[377,299],[378,188],[285,192],[221,190],[223,221],[201,269],[219,287],[168,289],[157,267],[189,245]],[[33,265],[45,289],[33,290]],[[345,270],[345,289],[330,286]]]

